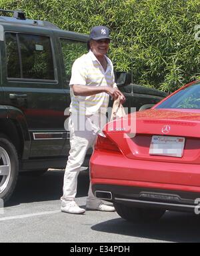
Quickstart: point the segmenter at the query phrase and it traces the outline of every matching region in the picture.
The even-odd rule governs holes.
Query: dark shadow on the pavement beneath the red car
[[[200,242],[200,216],[166,212],[156,223],[135,224],[124,219],[111,219],[91,227],[92,230],[179,243]],[[135,239],[134,239],[135,240]]]

